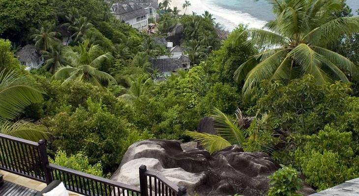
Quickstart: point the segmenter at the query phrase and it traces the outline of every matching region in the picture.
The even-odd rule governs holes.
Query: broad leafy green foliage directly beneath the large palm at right
[[[317,85],[311,75],[288,85],[263,82],[254,112],[270,114],[278,132],[313,134],[344,115],[350,84]]]

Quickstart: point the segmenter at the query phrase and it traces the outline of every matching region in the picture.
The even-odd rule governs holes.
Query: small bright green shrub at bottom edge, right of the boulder
[[[302,187],[299,172],[291,166],[281,166],[281,169],[269,176],[268,196],[299,196],[297,191]]]

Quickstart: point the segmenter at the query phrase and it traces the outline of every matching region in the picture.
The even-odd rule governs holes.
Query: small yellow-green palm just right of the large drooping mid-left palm
[[[127,89],[127,93],[121,95],[120,98],[127,100],[150,98],[154,84],[152,78],[148,77],[148,75],[141,74],[137,78],[129,76],[127,83],[130,87]]]

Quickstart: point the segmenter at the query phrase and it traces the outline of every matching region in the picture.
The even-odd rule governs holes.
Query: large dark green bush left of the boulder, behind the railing
[[[139,134],[125,118],[110,113],[101,101],[88,99],[86,104],[86,109],[62,111],[44,122],[53,134],[51,147],[68,154],[82,151],[90,164],[101,161],[104,172],[113,172],[132,143],[151,136]]]

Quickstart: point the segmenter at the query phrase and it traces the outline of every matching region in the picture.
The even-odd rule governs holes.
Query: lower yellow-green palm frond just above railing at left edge
[[[29,121],[4,122],[0,125],[0,133],[34,142],[48,139],[48,132],[45,126]]]

